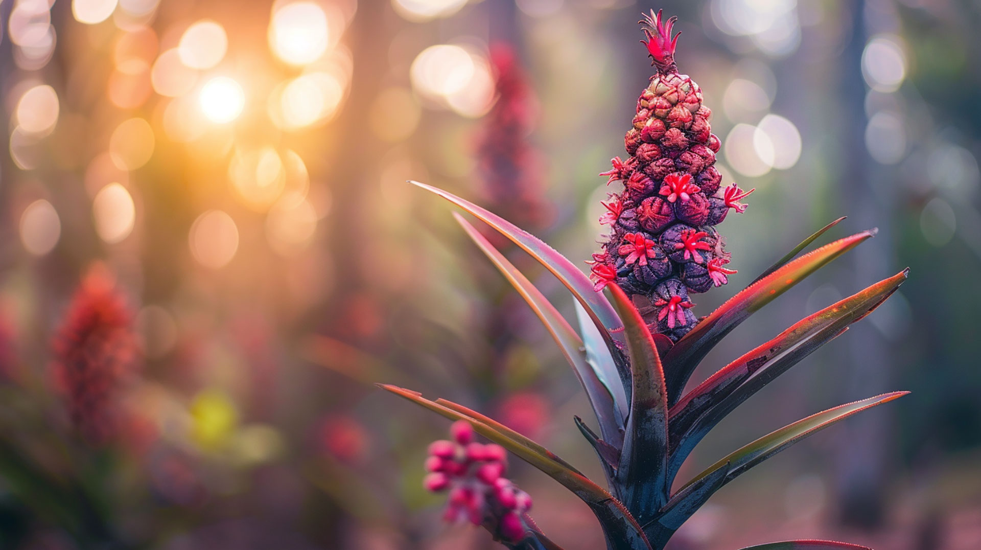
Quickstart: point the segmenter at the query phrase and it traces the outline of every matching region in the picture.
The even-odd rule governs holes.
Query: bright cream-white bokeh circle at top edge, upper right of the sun
[[[269,46],[290,65],[307,65],[327,51],[327,15],[314,2],[291,2],[276,8],[269,24]]]

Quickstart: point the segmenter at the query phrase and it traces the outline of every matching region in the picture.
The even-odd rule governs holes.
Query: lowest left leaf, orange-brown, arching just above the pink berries
[[[451,420],[469,421],[477,433],[501,445],[535,468],[541,469],[552,479],[583,499],[590,505],[608,540],[622,543],[624,548],[630,550],[651,550],[640,523],[637,523],[630,512],[613,498],[613,495],[538,443],[490,419],[490,417],[471,411],[462,405],[441,399],[434,402],[424,398],[418,392],[387,384],[379,384],[378,386]]]

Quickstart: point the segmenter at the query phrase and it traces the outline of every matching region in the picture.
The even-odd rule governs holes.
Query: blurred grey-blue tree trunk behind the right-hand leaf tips
[[[841,281],[843,294],[852,294],[864,285],[892,274],[893,231],[891,221],[895,209],[892,193],[882,189],[886,174],[874,163],[864,142],[865,82],[861,73],[861,55],[867,40],[866,5],[859,0],[846,4],[843,16],[851,20],[852,32],[845,46],[840,66],[842,124],[840,156],[843,170],[838,196],[842,206],[860,227],[878,226],[876,239],[862,245],[849,255],[851,269]],[[854,223],[853,222],[853,223]],[[869,323],[852,326],[846,347],[845,375],[841,393],[846,399],[856,399],[887,391],[891,380],[891,346],[884,335]],[[844,438],[837,446],[836,485],[839,514],[842,523],[875,528],[886,516],[885,491],[889,468],[890,425],[887,409],[858,415],[844,426]]]

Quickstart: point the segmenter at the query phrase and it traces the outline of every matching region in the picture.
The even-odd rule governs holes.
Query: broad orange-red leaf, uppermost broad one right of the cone
[[[875,235],[875,230],[863,231],[824,247],[807,252],[763,279],[749,285],[723,303],[695,328],[682,337],[664,357],[667,374],[668,403],[674,405],[685,388],[698,362],[719,342],[762,306],[787,292],[788,289],[817,271],[831,260],[857,247]]]

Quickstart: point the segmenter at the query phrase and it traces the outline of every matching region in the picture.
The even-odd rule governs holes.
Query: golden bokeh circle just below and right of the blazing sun
[[[246,206],[265,210],[284,191],[283,159],[273,147],[235,151],[229,164],[229,179]]]

